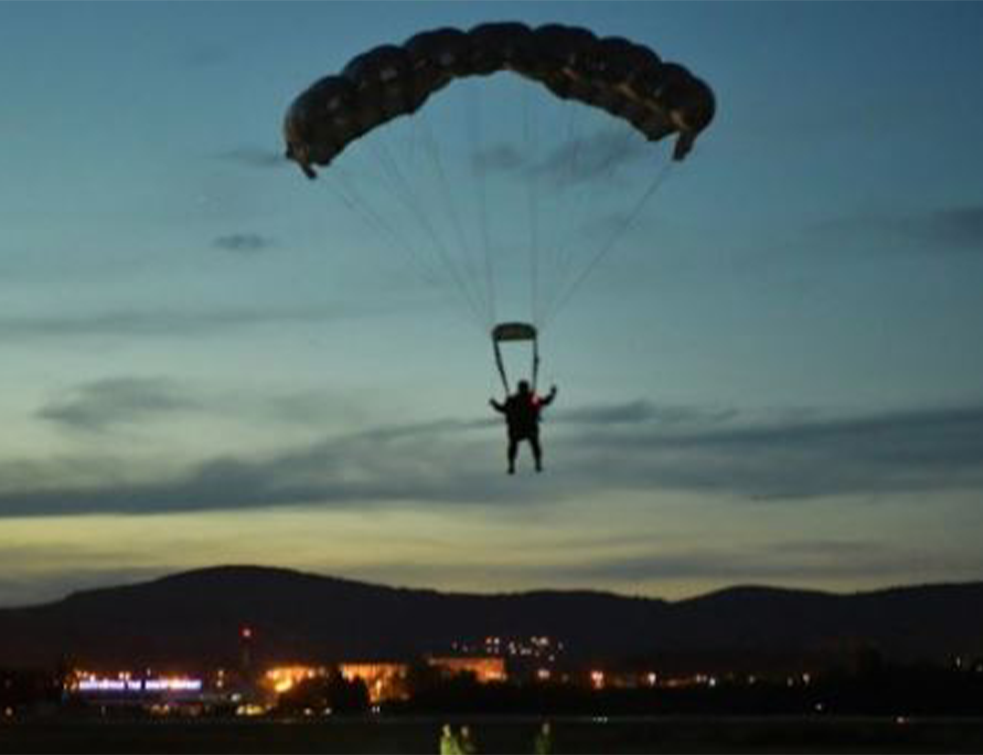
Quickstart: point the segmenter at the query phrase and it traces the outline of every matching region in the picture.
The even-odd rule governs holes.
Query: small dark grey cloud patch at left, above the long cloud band
[[[165,378],[113,378],[87,383],[38,411],[42,419],[76,430],[101,432],[121,423],[195,409],[198,403]]]

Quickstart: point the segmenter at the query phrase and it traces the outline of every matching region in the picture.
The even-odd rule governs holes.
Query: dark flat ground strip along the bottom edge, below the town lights
[[[328,721],[0,719],[0,753],[437,753],[445,719]],[[468,723],[478,752],[532,752],[535,718]],[[558,753],[979,753],[983,719],[553,719]]]

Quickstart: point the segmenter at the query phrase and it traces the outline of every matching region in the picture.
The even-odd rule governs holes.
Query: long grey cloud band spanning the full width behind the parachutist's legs
[[[317,505],[336,509],[551,505],[615,491],[735,499],[983,490],[983,407],[869,417],[585,407],[545,426],[550,471],[508,478],[493,420],[380,426],[260,458],[220,457],[182,474],[99,482],[61,464],[0,470],[0,516],[158,513]],[[42,465],[43,466],[43,465]],[[9,474],[8,474],[9,472]],[[44,487],[30,481],[45,480]]]

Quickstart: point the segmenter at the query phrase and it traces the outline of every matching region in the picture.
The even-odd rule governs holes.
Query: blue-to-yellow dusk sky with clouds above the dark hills
[[[283,159],[353,56],[510,19],[648,45],[717,116],[669,165],[503,73]],[[978,3],[0,3],[0,605],[217,564],[980,579],[981,38]],[[487,330],[537,314],[546,471],[508,477]]]

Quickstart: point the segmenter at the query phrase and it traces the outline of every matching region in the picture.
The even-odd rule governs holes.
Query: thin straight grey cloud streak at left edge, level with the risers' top
[[[263,308],[200,311],[117,310],[96,314],[0,318],[0,341],[38,338],[189,336],[276,323],[342,317],[335,308]]]

